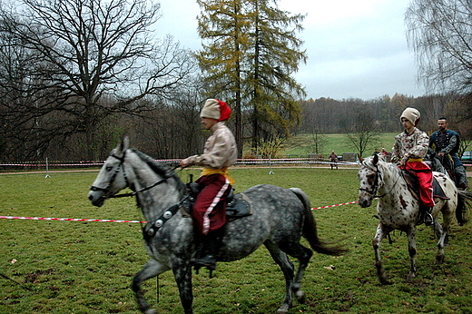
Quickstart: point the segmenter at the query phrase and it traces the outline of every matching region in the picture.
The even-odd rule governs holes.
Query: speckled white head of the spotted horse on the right
[[[373,157],[360,158],[359,161],[361,162],[358,172],[359,205],[366,208],[372,204],[372,200],[379,191],[379,162],[382,161],[382,158],[378,154],[374,154]]]

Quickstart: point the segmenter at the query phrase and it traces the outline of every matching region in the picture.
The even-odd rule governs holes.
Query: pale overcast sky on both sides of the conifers
[[[409,0],[280,0],[280,9],[307,14],[303,32],[307,64],[294,74],[308,98],[374,99],[385,94],[425,93],[417,83],[414,54],[404,23]],[[162,0],[158,34],[200,49],[195,0]]]

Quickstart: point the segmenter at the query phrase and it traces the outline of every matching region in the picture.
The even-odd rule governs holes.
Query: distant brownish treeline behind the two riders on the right
[[[310,99],[302,102],[302,123],[299,132],[349,133],[356,132],[359,124],[373,122],[377,132],[400,132],[399,116],[407,107],[421,113],[419,128],[425,132],[438,129],[438,118],[445,116],[449,127],[467,140],[472,139],[470,105],[457,95],[428,95],[413,97],[396,93],[365,101],[351,98]]]

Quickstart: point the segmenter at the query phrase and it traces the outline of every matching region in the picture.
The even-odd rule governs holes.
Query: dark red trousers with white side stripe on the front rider
[[[198,234],[204,235],[226,224],[226,196],[231,184],[220,173],[202,176],[196,182],[203,189],[193,205],[193,226]]]

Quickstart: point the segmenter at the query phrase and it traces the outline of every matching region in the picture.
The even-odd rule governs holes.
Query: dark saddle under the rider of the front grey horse
[[[190,182],[187,183],[187,189],[190,192],[190,201],[186,204],[185,210],[190,213],[198,194],[202,191],[202,187],[197,182]],[[251,214],[251,204],[246,199],[246,195],[244,193],[235,194],[234,189],[231,189],[228,196],[226,196],[226,217],[234,220]]]

